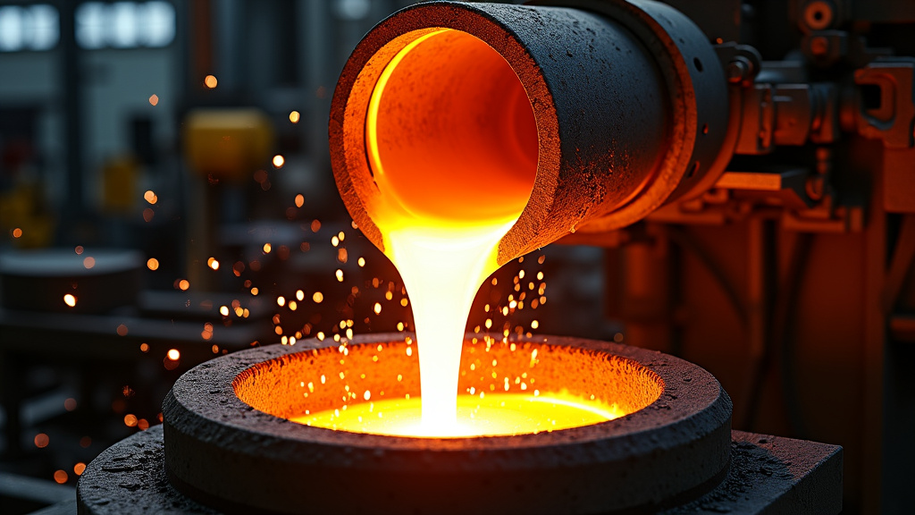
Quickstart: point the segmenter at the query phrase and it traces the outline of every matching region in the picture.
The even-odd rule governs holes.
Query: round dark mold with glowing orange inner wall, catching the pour
[[[727,474],[731,402],[715,378],[673,356],[576,338],[468,339],[461,386],[524,374],[530,389],[593,395],[629,414],[446,439],[286,420],[350,392],[352,402],[368,389],[373,400],[418,395],[407,345],[404,334],[366,334],[345,352],[312,340],[193,368],[163,406],[169,482],[230,513],[633,513],[694,499]]]

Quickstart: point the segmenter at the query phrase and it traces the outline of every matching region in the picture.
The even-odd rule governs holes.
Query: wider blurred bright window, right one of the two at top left
[[[83,49],[165,47],[175,39],[175,6],[168,2],[86,2],[76,10]]]

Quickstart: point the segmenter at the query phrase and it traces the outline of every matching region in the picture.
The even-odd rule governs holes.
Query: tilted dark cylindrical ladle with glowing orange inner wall
[[[500,264],[636,222],[711,170],[727,89],[702,31],[656,2],[576,4],[588,10],[424,3],[361,41],[334,93],[330,153],[376,246],[382,169],[409,212],[523,206]]]

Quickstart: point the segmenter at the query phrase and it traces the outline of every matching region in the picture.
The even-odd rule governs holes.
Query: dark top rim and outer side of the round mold
[[[403,340],[402,333],[365,334],[350,345]],[[232,382],[246,369],[337,344],[269,345],[218,357],[178,379],[163,406],[168,477],[189,497],[237,512],[339,510],[339,499],[353,497],[340,484],[347,477],[362,492],[347,499],[353,511],[478,510],[456,494],[472,488],[502,512],[599,513],[683,502],[727,474],[731,403],[704,369],[626,345],[557,336],[529,341],[630,359],[662,379],[661,395],[619,419],[552,433],[436,439],[338,432],[238,398]],[[404,485],[422,485],[429,494],[411,488],[404,497]],[[536,485],[554,488],[532,492]]]

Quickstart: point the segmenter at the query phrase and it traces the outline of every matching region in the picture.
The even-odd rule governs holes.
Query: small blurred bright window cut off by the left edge
[[[59,38],[60,20],[54,6],[0,6],[0,52],[53,49]]]

